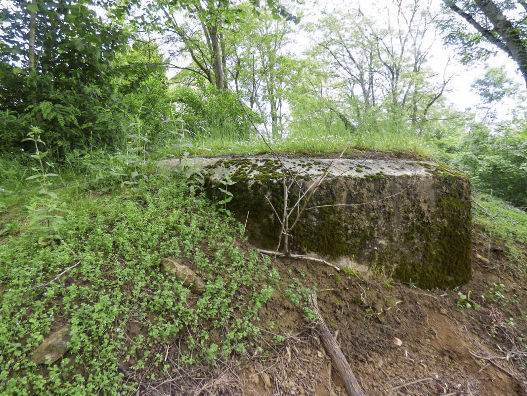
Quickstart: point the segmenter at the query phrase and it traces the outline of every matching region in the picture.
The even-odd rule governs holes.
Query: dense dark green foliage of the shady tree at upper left
[[[129,34],[97,18],[91,4],[16,0],[0,6],[5,16],[0,30],[0,79],[5,87],[0,90],[0,109],[16,117],[9,117],[8,123],[0,117],[0,150],[30,149],[21,141],[31,125],[42,128],[42,140],[55,155],[117,140],[125,106],[111,99],[122,98],[115,95],[112,79],[118,73],[116,54],[125,48]],[[37,64],[28,72],[27,59],[20,54],[29,46],[31,13],[36,13]],[[134,68],[129,69],[120,75]],[[108,113],[111,118],[101,117]]]

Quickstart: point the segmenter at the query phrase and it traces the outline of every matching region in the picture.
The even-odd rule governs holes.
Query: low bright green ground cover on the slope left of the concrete
[[[57,188],[70,213],[56,243],[39,246],[24,225],[0,239],[0,394],[115,394],[123,391],[119,363],[152,378],[178,369],[159,353],[163,343],[179,345],[177,365],[214,365],[244,353],[258,334],[276,271],[237,246],[241,226],[191,194],[187,181],[137,178],[113,194]],[[191,295],[164,274],[162,257],[188,263],[204,293]],[[67,355],[32,363],[44,337],[66,323]]]

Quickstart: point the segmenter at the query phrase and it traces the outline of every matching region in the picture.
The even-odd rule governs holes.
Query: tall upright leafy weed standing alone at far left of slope
[[[69,212],[65,203],[52,190],[52,178],[58,176],[51,171],[55,168],[55,164],[45,160],[49,150],[41,150],[38,145],[45,146],[46,144],[41,139],[42,129],[32,126],[27,138],[23,142],[33,142],[35,146],[35,153],[31,154],[35,158],[37,166],[31,167],[35,172],[33,175],[26,177],[27,181],[34,180],[40,184],[41,189],[38,195],[35,196],[26,209],[30,213],[30,227],[39,233],[38,243],[41,245],[50,244],[57,239],[61,239],[60,229],[64,223],[63,214]]]

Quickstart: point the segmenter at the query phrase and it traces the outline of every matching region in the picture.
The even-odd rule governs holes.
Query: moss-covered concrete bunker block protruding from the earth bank
[[[333,159],[282,162],[306,188]],[[236,182],[228,186],[234,197],[227,208],[240,221],[247,219],[252,243],[275,249],[280,221],[266,196],[281,215],[282,179],[291,180],[282,164],[272,157],[196,158],[192,163],[206,171],[206,191],[214,199],[223,197],[220,180]],[[298,194],[293,184],[289,207]],[[292,231],[290,251],[424,288],[458,286],[472,275],[470,183],[459,172],[424,161],[340,159],[308,206],[320,205],[335,206],[307,210]]]

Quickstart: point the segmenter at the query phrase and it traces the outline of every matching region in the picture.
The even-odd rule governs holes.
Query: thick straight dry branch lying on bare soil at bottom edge
[[[352,368],[349,366],[344,353],[336,343],[335,339],[331,335],[328,326],[324,322],[323,317],[320,315],[320,311],[317,305],[317,295],[310,294],[311,308],[317,316],[316,328],[320,335],[320,341],[326,350],[326,353],[331,358],[331,362],[335,367],[335,370],[340,375],[340,379],[344,382],[344,387],[348,396],[365,396],[364,391],[360,388],[355,375],[353,374]]]

